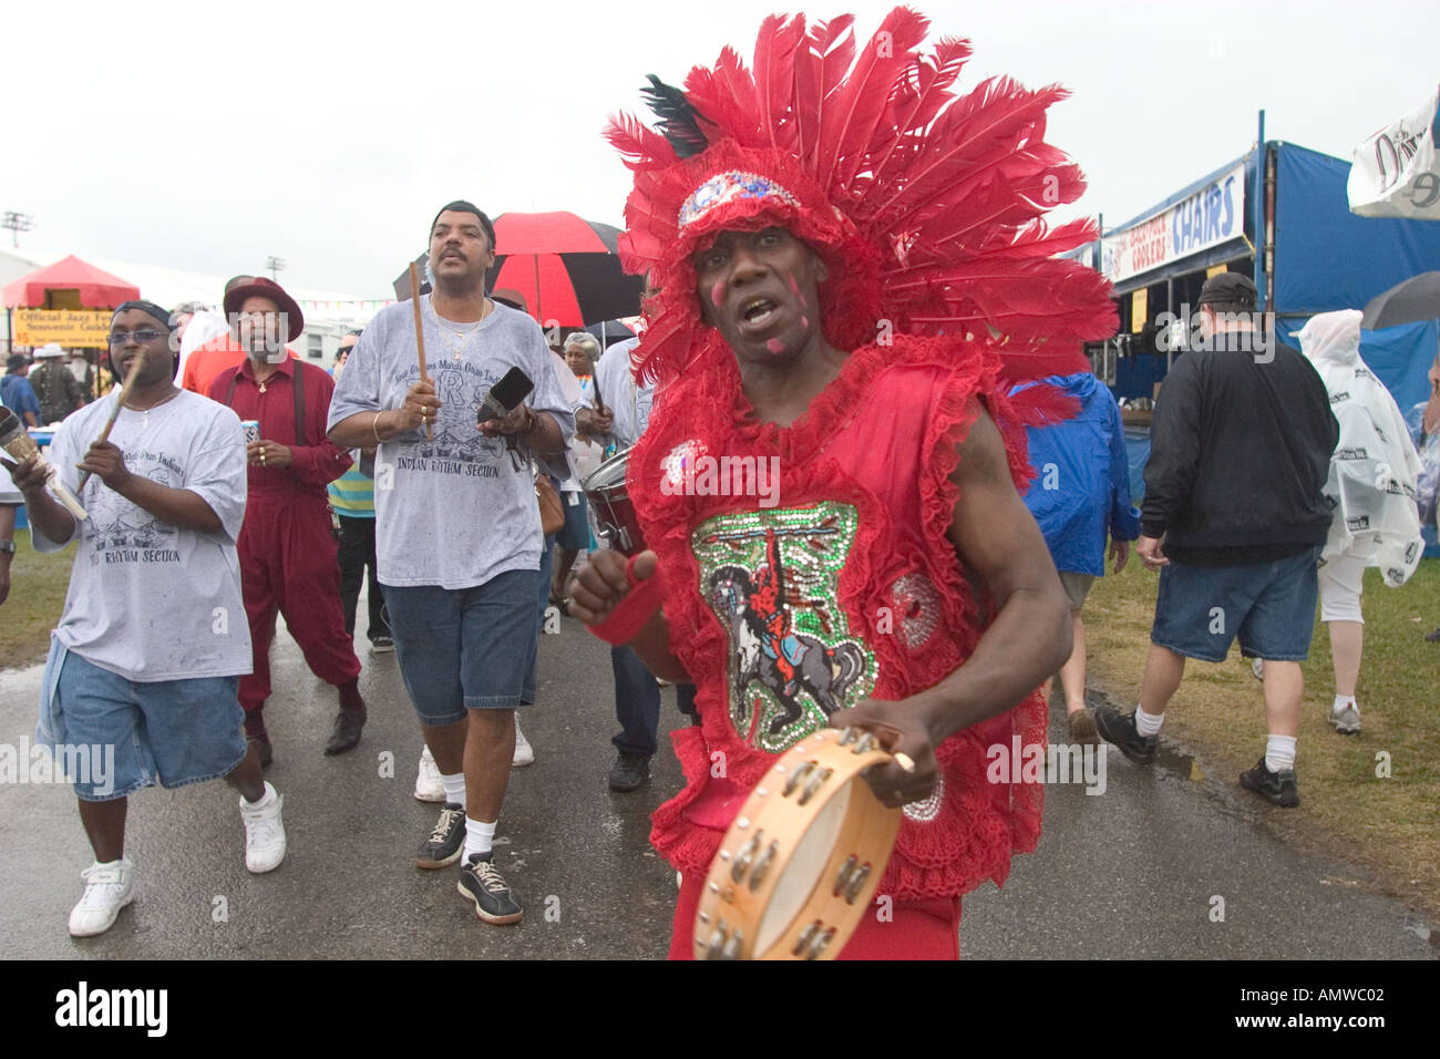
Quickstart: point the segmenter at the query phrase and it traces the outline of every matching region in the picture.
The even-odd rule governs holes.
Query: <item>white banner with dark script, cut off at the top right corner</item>
[[[1436,166],[1434,134],[1437,104],[1440,89],[1355,148],[1345,189],[1351,213],[1440,220],[1440,167]]]

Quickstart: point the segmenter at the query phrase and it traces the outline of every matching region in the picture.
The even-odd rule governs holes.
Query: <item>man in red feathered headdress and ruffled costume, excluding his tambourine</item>
[[[1058,89],[953,98],[968,45],[922,55],[924,29],[896,9],[860,50],[848,17],[772,17],[753,75],[726,49],[684,94],[654,82],[664,137],[611,130],[635,171],[622,256],[661,290],[634,360],[665,388],[628,475],[654,549],[634,573],[662,575],[664,612],[629,643],[698,684],[703,720],[674,736],[690,784],[651,836],[683,873],[677,958],[724,947],[693,926],[706,870],[775,755],[824,726],[913,762],[867,777],[904,807],[894,908],[845,957],[956,957],[960,895],[1038,837],[1038,785],[988,767],[1043,742],[1035,689],[1070,653],[1017,493],[1024,424],[1066,409],[1004,392],[1083,366],[1115,316],[1053,258],[1093,229],[1038,220],[1083,187],[1043,143]],[[572,612],[613,631],[644,595],[602,553]]]

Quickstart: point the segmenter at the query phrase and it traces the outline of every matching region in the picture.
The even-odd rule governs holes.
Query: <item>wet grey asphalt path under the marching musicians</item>
[[[364,607],[360,607],[364,615]],[[361,617],[363,621],[363,617]],[[321,749],[334,690],[284,631],[266,707],[268,778],[285,797],[289,854],[245,870],[238,795],[223,782],[131,798],[137,899],[99,938],[65,929],[91,863],[68,787],[0,784],[0,952],[10,958],[605,958],[665,954],[674,872],[648,846],[649,813],[681,785],[662,742],[648,787],[612,794],[608,648],[576,622],[541,641],[540,702],[521,713],[536,762],[513,769],[498,863],[526,903],[517,926],[475,919],[455,869],[413,850],[436,808],[410,797],[420,738],[393,654],[361,644],[370,722],[340,758]],[[0,742],[35,728],[39,670],[0,673]],[[661,728],[684,719],[664,693]],[[1053,739],[1064,739],[1053,719]],[[393,775],[384,775],[384,754]],[[986,958],[1420,958],[1427,921],[1344,862],[1266,831],[1270,811],[1234,778],[1192,778],[1174,749],[1152,769],[1112,751],[1103,795],[1047,791],[1038,850],[1004,890],[965,899],[962,955]],[[1303,811],[1303,807],[1299,810]],[[1223,899],[1224,919],[1215,909]]]

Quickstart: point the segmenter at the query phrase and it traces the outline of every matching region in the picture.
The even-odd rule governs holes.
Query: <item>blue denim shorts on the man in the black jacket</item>
[[[1240,638],[1247,658],[1305,661],[1315,633],[1320,549],[1243,566],[1161,568],[1151,641],[1201,661],[1224,661]]]

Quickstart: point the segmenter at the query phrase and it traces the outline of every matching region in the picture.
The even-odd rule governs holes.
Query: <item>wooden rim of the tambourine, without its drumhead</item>
[[[850,736],[850,743],[841,743],[845,736]],[[901,816],[899,808],[886,807],[861,778],[861,772],[867,768],[883,765],[891,761],[891,756],[878,748],[855,754],[857,738],[863,738],[863,733],[832,728],[808,735],[786,751],[756,784],[734,823],[730,824],[730,830],[726,831],[706,875],[694,922],[696,958],[834,960],[840,955],[860,926],[870,908],[870,899],[880,886],[880,877],[890,862],[890,852],[900,831]],[[814,764],[812,771],[786,795],[786,781],[806,762]],[[827,768],[831,769],[829,777],[815,788],[804,807],[799,805],[806,784]],[[795,918],[785,925],[779,939],[765,952],[756,952],[755,945],[765,912],[805,831],[845,787],[850,787],[845,816],[811,893]],[[747,844],[762,833],[762,841],[750,850],[749,857],[744,857]],[[760,883],[752,889],[756,866],[762,863],[772,843],[776,852],[763,870]],[[850,854],[855,854],[857,862],[848,879],[854,880],[865,863],[870,864],[870,870],[860,886],[845,886],[837,896],[837,879]],[[734,877],[737,864],[742,866],[739,880]],[[802,944],[801,935],[815,921],[822,926],[811,929]]]

